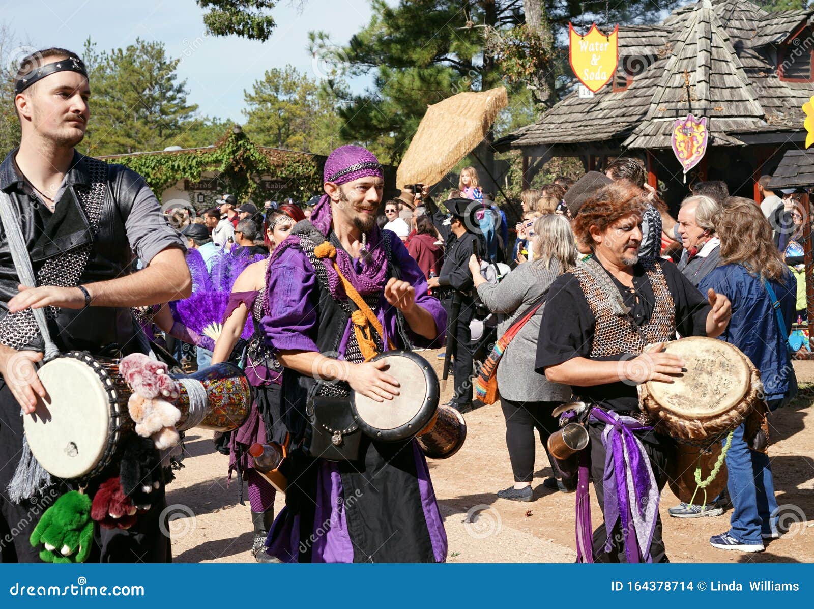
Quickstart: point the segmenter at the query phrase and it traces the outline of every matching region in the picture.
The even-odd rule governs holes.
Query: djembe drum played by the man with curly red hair
[[[696,470],[707,481],[708,498],[726,485],[720,462],[721,442],[747,417],[764,416],[766,405],[760,373],[740,349],[723,340],[693,336],[665,345],[681,357],[686,371],[673,383],[648,381],[638,386],[641,410],[655,419],[658,432],[676,440],[675,458],[667,462],[670,489],[682,502],[692,502],[699,488]]]

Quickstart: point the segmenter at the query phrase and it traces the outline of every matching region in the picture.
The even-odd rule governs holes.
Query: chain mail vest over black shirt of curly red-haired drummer
[[[640,261],[645,268],[655,303],[650,321],[637,326],[624,305],[616,287],[599,263],[593,258],[568,271],[580,282],[588,300],[596,327],[593,332],[591,357],[607,357],[619,353],[641,353],[647,344],[672,340],[676,332],[676,305],[667,287],[661,266],[653,259]]]

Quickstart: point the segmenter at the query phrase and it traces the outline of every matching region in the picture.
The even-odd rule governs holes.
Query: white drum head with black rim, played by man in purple
[[[435,414],[440,385],[435,370],[411,351],[387,351],[372,361],[387,361],[383,372],[400,383],[400,394],[383,402],[352,393],[352,407],[362,432],[374,440],[406,440],[420,432]]]

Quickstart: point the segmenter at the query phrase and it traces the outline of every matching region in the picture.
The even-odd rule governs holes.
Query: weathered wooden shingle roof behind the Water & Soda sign
[[[701,0],[662,24],[620,27],[620,67],[648,66],[627,90],[606,85],[592,99],[571,93],[496,146],[667,148],[673,121],[689,112],[709,118],[713,146],[742,145],[738,134],[799,131],[812,85],[781,81],[773,42],[765,41],[777,40],[783,28],[785,39],[812,15],[814,9],[769,14],[745,0]]]

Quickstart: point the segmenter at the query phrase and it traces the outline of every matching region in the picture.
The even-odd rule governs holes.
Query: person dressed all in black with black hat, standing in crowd
[[[471,199],[449,199],[446,202],[450,221],[450,237],[444,252],[444,265],[438,277],[430,278],[427,285],[440,288],[441,302],[447,311],[447,348],[455,356],[455,395],[449,405],[461,412],[472,408],[472,351],[469,323],[475,313],[475,296],[469,258],[478,254],[478,238],[466,226],[478,226],[470,218]],[[479,208],[478,206],[475,206]],[[468,218],[468,221],[467,221]]]

